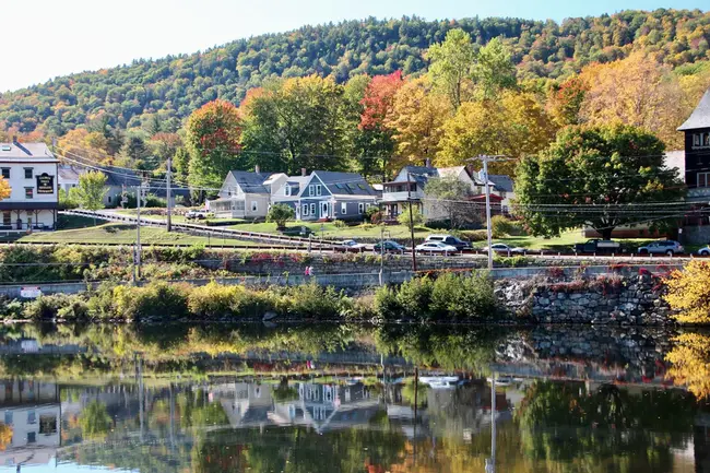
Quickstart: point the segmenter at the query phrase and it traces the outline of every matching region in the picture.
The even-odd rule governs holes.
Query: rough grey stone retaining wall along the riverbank
[[[673,323],[661,298],[665,287],[649,274],[612,274],[551,282],[502,282],[496,295],[504,307],[540,323],[659,326]]]

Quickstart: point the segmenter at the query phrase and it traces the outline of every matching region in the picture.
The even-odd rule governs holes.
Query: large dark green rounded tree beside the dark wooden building
[[[685,186],[677,169],[665,167],[663,150],[655,135],[630,126],[569,127],[519,164],[517,212],[545,236],[589,225],[610,239],[618,226],[673,221]],[[649,205],[654,202],[666,213]]]

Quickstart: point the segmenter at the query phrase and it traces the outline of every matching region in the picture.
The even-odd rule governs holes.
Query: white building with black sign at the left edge
[[[45,143],[0,143],[0,172],[12,188],[0,201],[0,229],[55,229],[58,161]]]

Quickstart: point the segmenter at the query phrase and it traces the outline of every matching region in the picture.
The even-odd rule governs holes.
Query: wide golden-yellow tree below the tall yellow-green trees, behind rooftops
[[[496,100],[462,104],[443,126],[436,164],[460,166],[477,154],[521,158],[545,149],[556,128],[534,95],[505,91]],[[513,175],[516,161],[496,163],[492,174]]]

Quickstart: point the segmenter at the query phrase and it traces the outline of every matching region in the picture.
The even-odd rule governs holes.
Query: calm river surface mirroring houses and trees
[[[676,333],[7,327],[1,338],[0,471],[710,472],[710,416],[668,377],[668,354],[688,343]]]

